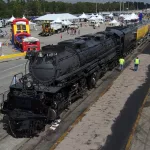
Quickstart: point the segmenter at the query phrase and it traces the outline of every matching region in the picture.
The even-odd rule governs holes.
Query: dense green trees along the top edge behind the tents
[[[144,2],[124,2],[122,9],[135,10],[135,9],[150,8],[150,4]],[[65,3],[65,2],[48,2],[46,0],[0,0],[0,17],[9,18],[12,15],[15,17],[40,16],[46,13],[95,13],[102,11],[119,11],[119,2],[106,2],[106,3]]]

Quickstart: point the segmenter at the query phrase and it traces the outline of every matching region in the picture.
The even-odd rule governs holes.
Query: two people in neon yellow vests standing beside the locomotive
[[[120,70],[122,71],[123,68],[124,68],[124,64],[125,64],[125,60],[124,58],[120,58],[119,59],[119,65],[120,65]],[[138,66],[140,64],[140,59],[138,57],[136,57],[134,59],[134,71],[137,71],[138,70]]]

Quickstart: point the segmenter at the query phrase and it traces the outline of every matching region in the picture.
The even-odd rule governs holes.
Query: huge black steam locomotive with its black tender
[[[2,105],[5,129],[17,136],[42,131],[135,46],[134,30],[118,27],[28,52],[29,73],[10,86]]]

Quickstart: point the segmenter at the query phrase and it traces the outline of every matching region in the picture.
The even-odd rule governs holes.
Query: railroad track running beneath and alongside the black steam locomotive
[[[142,49],[144,49],[144,47],[147,46],[147,42],[144,42],[145,44],[141,44],[139,47],[137,47],[137,49],[135,50],[135,52],[133,54],[131,54],[130,56],[126,57],[126,66],[130,63],[130,61],[138,54],[142,51]],[[144,45],[144,46],[143,46]],[[62,123],[61,125],[58,127],[58,129],[56,129],[58,131],[57,136],[55,136],[55,138],[52,140],[51,137],[53,135],[55,135],[56,131],[50,130],[50,125],[48,125],[46,127],[46,130],[42,133],[40,133],[39,137],[35,137],[33,139],[15,139],[12,138],[10,135],[8,135],[6,132],[4,132],[4,134],[2,134],[2,136],[0,136],[0,150],[1,148],[3,148],[4,144],[8,144],[9,140],[11,140],[13,144],[13,149],[15,150],[25,150],[25,149],[37,149],[38,145],[42,142],[42,141],[51,141],[51,149],[54,149],[55,146],[57,144],[59,144],[59,142],[57,141],[59,138],[62,138],[61,135],[63,133],[65,133],[66,130],[68,130],[67,132],[69,132],[73,126],[78,122],[76,121],[76,118],[78,116],[80,116],[80,114],[82,114],[84,111],[88,111],[89,106],[91,106],[93,103],[95,103],[95,101],[102,96],[111,86],[112,82],[120,75],[120,72],[116,71],[116,68],[113,69],[111,72],[107,72],[105,74],[105,76],[103,78],[101,78],[98,83],[97,83],[97,87],[95,89],[92,89],[90,91],[87,91],[87,94],[84,95],[83,98],[80,98],[78,101],[76,101],[74,104],[72,104],[70,106],[70,110],[67,112],[63,112],[61,115],[62,118]],[[96,94],[94,94],[96,93]],[[99,95],[99,93],[102,93],[101,95]],[[89,97],[92,97],[89,100]],[[75,113],[75,111],[78,111],[78,108],[84,105],[84,107],[82,108],[82,110],[80,110],[78,113],[76,113],[74,115],[74,119],[73,120],[69,120],[70,116],[72,115],[72,113]],[[66,123],[66,121],[69,120],[70,122],[68,123],[68,126],[65,126],[64,124]],[[78,119],[80,120],[80,119]],[[75,123],[74,123],[75,121]],[[0,124],[2,125],[2,124]],[[69,128],[70,127],[70,128]],[[63,128],[63,129],[62,129]],[[4,131],[2,129],[2,126],[0,126],[0,130]],[[63,135],[64,136],[64,135]],[[57,142],[56,142],[57,141]],[[61,139],[60,139],[61,141]],[[3,148],[4,149],[4,148]],[[11,150],[12,148],[9,147],[8,150]]]

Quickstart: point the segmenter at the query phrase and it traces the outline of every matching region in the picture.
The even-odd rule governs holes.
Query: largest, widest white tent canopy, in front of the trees
[[[47,14],[44,16],[41,16],[39,18],[36,18],[35,20],[49,20],[49,21],[53,21],[56,18],[59,18],[60,20],[63,19],[67,19],[67,20],[74,20],[74,19],[78,19],[78,17],[69,14],[69,13],[63,13],[63,14]]]

